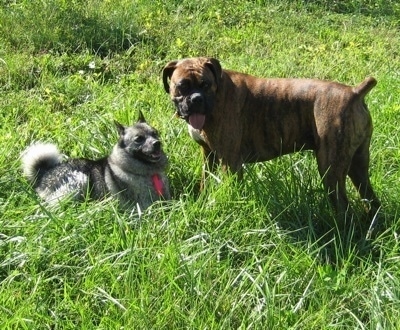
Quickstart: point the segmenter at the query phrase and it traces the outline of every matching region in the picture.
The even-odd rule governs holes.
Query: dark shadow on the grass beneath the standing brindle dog
[[[308,161],[299,165],[290,160],[290,166],[280,171],[274,168],[276,165],[260,166],[261,172],[246,170],[248,198],[259,204],[267,203],[271,221],[294,243],[314,246],[318,258],[332,264],[354,256],[380,257],[375,242],[386,235],[395,217],[383,210],[377,215],[367,214],[358,194],[352,200],[350,193],[351,209],[345,219],[338,220],[318,173],[312,166],[307,167]]]

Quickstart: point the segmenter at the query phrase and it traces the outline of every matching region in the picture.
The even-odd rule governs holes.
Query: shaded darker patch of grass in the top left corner
[[[115,17],[116,12],[111,15],[104,6],[97,8],[83,1],[5,4],[0,16],[3,21],[0,32],[16,48],[32,47],[35,52],[51,50],[54,53],[89,49],[100,57],[146,42],[122,5],[114,8],[119,9],[118,17]]]

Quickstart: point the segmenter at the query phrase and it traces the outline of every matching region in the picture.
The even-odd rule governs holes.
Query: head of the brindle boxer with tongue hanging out
[[[179,117],[195,129],[202,129],[211,115],[222,69],[215,58],[198,57],[169,62],[163,69],[163,83]]]

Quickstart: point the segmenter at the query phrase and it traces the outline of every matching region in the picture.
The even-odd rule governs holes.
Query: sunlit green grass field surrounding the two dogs
[[[395,0],[0,1],[1,329],[400,329],[399,25]],[[336,228],[308,152],[199,192],[201,153],[161,70],[201,55],[265,77],[378,80],[372,241]],[[113,120],[139,109],[161,132],[173,200],[140,218],[112,200],[47,209],[21,151],[102,157]]]

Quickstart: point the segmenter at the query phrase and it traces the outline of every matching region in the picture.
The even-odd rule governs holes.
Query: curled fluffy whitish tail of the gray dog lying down
[[[24,176],[34,183],[40,172],[46,171],[61,163],[62,155],[51,143],[35,143],[21,155]]]

